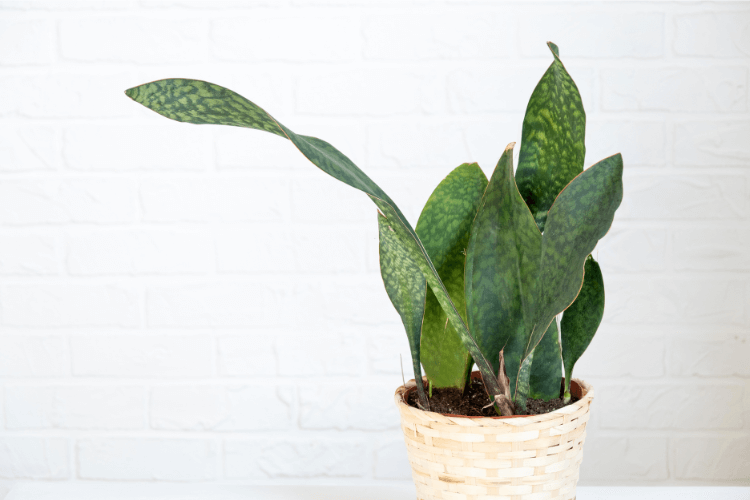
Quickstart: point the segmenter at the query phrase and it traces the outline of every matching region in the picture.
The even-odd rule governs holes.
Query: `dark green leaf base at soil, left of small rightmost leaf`
[[[557,321],[553,319],[544,337],[534,349],[529,397],[544,401],[560,397],[562,357],[559,337]]]

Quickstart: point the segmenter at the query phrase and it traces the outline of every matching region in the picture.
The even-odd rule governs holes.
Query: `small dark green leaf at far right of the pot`
[[[565,365],[565,395],[570,397],[570,380],[576,361],[594,338],[604,316],[604,280],[599,264],[592,256],[586,259],[581,292],[563,313],[560,321],[562,356]]]

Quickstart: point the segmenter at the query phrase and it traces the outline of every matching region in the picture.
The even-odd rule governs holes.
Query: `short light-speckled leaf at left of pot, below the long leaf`
[[[398,236],[388,224],[388,219],[378,212],[378,232],[380,234],[380,274],[388,297],[396,308],[409,339],[414,380],[422,380],[420,368],[419,337],[424,313],[426,283],[419,266],[401,245]],[[424,385],[417,384],[419,402],[429,409]]]

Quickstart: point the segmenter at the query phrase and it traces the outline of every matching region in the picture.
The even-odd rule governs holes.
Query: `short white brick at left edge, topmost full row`
[[[54,38],[49,19],[0,19],[0,66],[51,63]]]

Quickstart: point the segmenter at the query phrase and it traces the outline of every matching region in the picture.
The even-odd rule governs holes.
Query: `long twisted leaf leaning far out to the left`
[[[343,153],[321,139],[295,134],[259,106],[212,83],[167,79],[134,87],[125,93],[134,101],[172,120],[246,127],[286,137],[318,168],[369,195],[388,219],[405,251],[419,266],[449,321],[456,327],[462,342],[482,372],[490,395],[500,393],[491,365],[484,359],[461,319],[414,229],[393,200]]]

